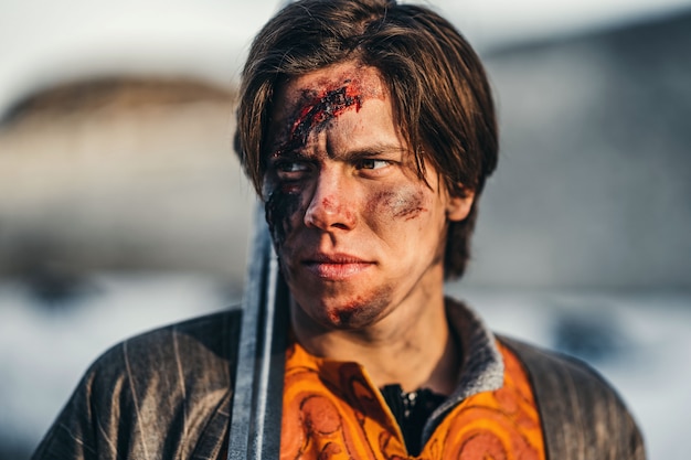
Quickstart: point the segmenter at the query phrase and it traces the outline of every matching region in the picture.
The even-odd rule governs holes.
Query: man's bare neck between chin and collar
[[[425,387],[444,395],[455,389],[460,349],[449,331],[442,292],[426,299],[424,308],[398,306],[358,330],[319,327],[295,303],[291,321],[298,342],[309,353],[358,362],[378,387],[400,384],[405,392]]]

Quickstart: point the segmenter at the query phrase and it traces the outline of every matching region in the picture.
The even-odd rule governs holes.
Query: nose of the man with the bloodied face
[[[352,192],[347,180],[337,172],[321,171],[305,212],[305,225],[325,232],[352,229],[355,225],[355,210]]]

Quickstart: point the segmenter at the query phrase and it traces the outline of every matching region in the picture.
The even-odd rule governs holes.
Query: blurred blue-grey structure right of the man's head
[[[467,282],[691,288],[691,10],[486,55],[501,153]]]

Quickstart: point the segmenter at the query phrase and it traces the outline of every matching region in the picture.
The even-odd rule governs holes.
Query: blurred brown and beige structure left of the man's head
[[[107,77],[46,88],[0,126],[0,275],[49,304],[98,270],[209,272],[240,289],[253,192],[233,92]]]

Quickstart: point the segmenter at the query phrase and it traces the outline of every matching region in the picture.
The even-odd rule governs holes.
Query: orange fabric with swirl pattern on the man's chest
[[[499,345],[504,385],[456,406],[418,457],[380,392],[355,363],[322,360],[294,343],[286,355],[281,460],[543,460],[538,409],[517,357]]]

